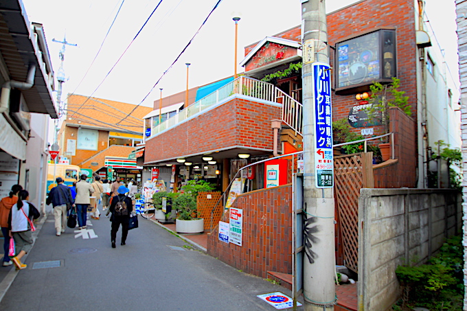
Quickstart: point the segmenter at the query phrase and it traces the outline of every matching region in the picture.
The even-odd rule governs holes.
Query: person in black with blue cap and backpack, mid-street
[[[126,196],[126,193],[129,192],[128,188],[124,185],[119,186],[117,192],[118,195],[113,197],[111,206],[109,207],[112,213],[111,242],[113,249],[115,249],[115,240],[117,240],[117,231],[120,224],[122,224],[122,243],[120,245],[126,244],[130,213],[133,211],[133,202],[130,197]]]

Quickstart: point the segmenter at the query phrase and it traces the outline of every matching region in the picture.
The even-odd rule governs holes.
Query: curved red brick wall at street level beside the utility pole
[[[245,273],[267,277],[267,271],[292,273],[292,187],[284,185],[239,196],[243,209],[242,246],[221,242],[218,227],[207,237],[207,253]],[[228,213],[223,221],[229,222]]]

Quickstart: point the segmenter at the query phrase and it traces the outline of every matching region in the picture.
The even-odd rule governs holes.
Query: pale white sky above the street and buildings
[[[159,100],[159,89],[163,89],[163,97],[185,91],[186,62],[191,63],[190,88],[234,74],[232,17],[241,18],[238,62],[244,57],[245,46],[301,23],[300,0],[223,0],[170,67],[218,0],[126,0],[102,45],[122,1],[23,0],[30,21],[43,24],[55,73],[60,68],[58,53],[62,45],[52,40],[62,41],[66,35],[69,43],[77,45],[66,47],[67,81],[63,84],[62,100],[67,93],[76,93],[153,106]],[[326,12],[355,2],[358,1],[328,0]],[[451,72],[457,76],[455,1],[439,3],[426,0],[426,13],[438,33],[437,40],[446,47]],[[153,10],[154,14],[139,32]],[[242,72],[242,67],[238,66],[237,71]]]

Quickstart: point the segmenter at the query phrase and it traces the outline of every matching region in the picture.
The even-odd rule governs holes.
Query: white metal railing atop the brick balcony
[[[296,133],[301,134],[302,108],[299,102],[282,92],[280,89],[274,87],[271,83],[241,76],[229,84],[225,84],[225,86],[221,87],[217,91],[201,98],[201,100],[194,102],[176,115],[170,117],[164,122],[161,122],[161,124],[152,126],[151,135],[154,136],[164,130],[174,128],[186,119],[190,119],[194,115],[201,113],[201,111],[220,102],[225,102],[228,97],[231,97],[234,94],[251,96],[258,98],[259,100],[282,104],[282,121],[288,126],[291,126]]]

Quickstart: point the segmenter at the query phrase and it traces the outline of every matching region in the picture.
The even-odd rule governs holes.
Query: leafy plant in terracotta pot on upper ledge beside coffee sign
[[[411,115],[411,106],[409,105],[409,97],[404,96],[405,91],[399,91],[400,80],[393,77],[390,84],[381,84],[373,82],[369,86],[372,95],[369,97],[369,108],[366,109],[367,114],[372,119],[380,119],[384,128],[384,133],[389,133],[389,108],[398,107],[407,115]],[[378,145],[380,148],[383,161],[389,159],[390,144],[389,137],[383,139],[383,143]]]

